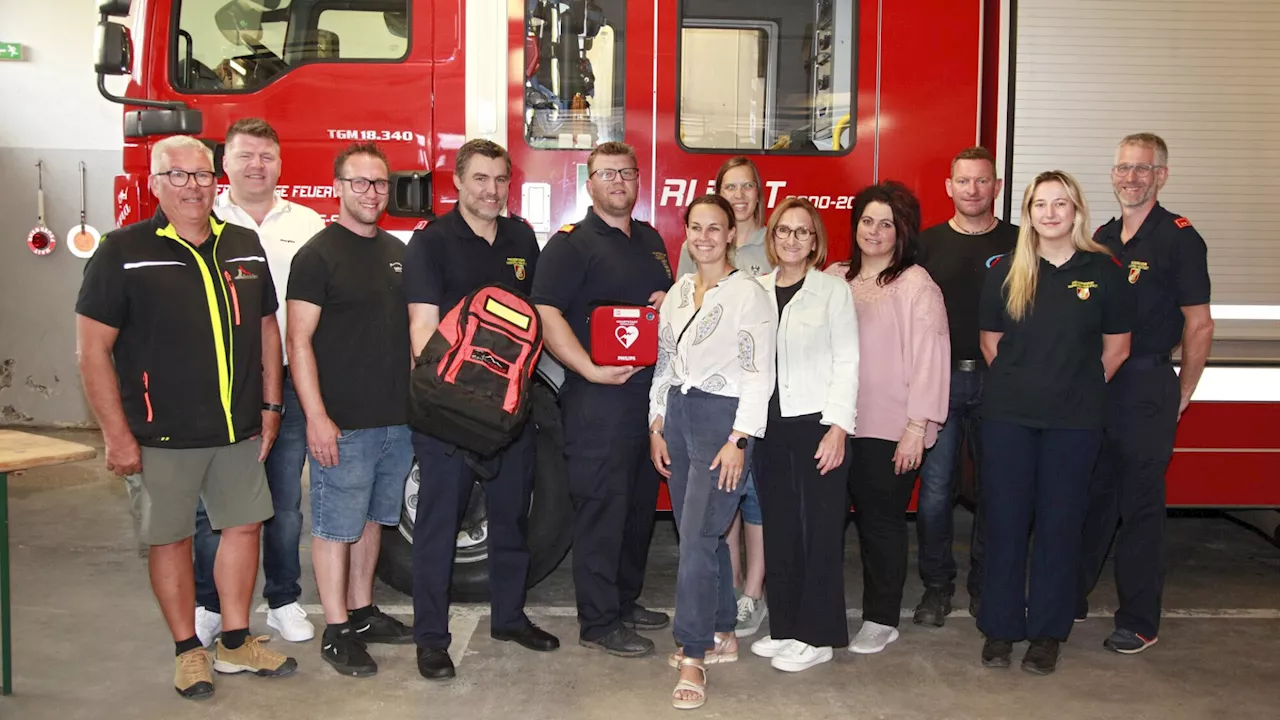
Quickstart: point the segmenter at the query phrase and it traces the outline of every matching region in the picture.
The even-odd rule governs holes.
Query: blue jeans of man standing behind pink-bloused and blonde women
[[[920,497],[915,511],[915,532],[918,537],[918,564],[920,579],[927,588],[941,588],[947,594],[955,593],[956,560],[951,550],[955,539],[955,523],[951,516],[955,503],[955,478],[959,470],[960,443],[969,446],[974,460],[975,477],[980,471],[978,442],[978,406],[982,402],[982,372],[951,373],[951,400],[947,421],[938,430],[938,441],[924,456],[920,466]],[[973,537],[969,543],[970,597],[982,594],[982,556],[983,542],[982,505],[973,520]]]

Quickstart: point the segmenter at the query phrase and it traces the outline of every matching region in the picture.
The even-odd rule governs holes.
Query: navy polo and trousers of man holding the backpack
[[[438,306],[443,320],[463,297],[489,283],[531,293],[538,238],[522,220],[498,217],[497,222],[492,245],[471,231],[457,209],[416,231],[404,250],[406,301]],[[520,437],[499,454],[494,477],[484,482],[494,633],[529,626],[525,589],[534,450],[534,424],[526,423]],[[421,477],[413,523],[413,641],[420,648],[448,650],[453,553],[479,478],[457,446],[417,430],[413,452]]]

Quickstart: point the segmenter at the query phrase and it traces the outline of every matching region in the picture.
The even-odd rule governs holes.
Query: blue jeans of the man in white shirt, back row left
[[[262,523],[262,571],[266,584],[262,597],[271,607],[297,602],[302,594],[298,578],[298,541],[302,538],[302,465],[307,459],[307,418],[302,414],[293,383],[284,379],[284,415],[280,434],[266,456],[266,484],[271,492],[275,515]],[[196,506],[196,538],[192,542],[196,561],[196,605],[221,612],[218,588],[214,587],[214,559],[219,534],[209,524],[205,503]]]

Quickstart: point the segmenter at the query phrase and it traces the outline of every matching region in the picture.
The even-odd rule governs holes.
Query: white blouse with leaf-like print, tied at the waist
[[[649,388],[649,423],[667,410],[667,393],[698,388],[737,397],[733,429],[764,437],[774,386],[777,313],[768,293],[735,272],[694,306],[694,282],[684,275],[658,310],[658,365]]]

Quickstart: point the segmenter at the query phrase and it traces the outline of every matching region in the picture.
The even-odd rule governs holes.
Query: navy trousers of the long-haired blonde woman
[[[983,420],[987,541],[978,629],[992,639],[1065,641],[1079,584],[1080,533],[1102,430]],[[1028,544],[1034,525],[1030,583]]]

